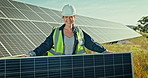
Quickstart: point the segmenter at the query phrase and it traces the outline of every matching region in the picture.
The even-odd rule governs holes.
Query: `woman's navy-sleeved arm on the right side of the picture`
[[[106,52],[106,49],[102,45],[100,45],[97,42],[94,42],[94,40],[84,31],[83,33],[84,33],[84,40],[85,40],[84,45],[87,49],[95,52],[99,52],[99,53]]]

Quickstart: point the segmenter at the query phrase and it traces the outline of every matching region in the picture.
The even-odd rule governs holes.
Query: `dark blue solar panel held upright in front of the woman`
[[[134,78],[131,53],[0,59],[0,78]]]

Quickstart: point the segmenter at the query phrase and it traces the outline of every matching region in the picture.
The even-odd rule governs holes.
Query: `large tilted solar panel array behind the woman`
[[[13,0],[0,0],[1,55],[24,54],[39,46],[52,31],[63,24],[61,11]],[[76,15],[75,26],[99,43],[141,36],[125,25]]]

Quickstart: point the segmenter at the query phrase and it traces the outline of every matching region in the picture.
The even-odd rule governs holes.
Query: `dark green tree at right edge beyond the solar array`
[[[139,32],[148,33],[148,16],[144,16],[138,20],[138,26],[133,29]]]

